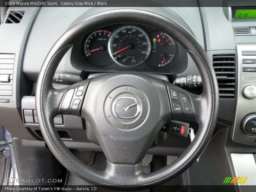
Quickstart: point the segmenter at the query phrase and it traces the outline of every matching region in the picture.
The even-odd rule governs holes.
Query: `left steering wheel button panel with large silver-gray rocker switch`
[[[81,116],[85,93],[91,79],[80,81],[69,86],[62,97],[59,107],[60,115]]]

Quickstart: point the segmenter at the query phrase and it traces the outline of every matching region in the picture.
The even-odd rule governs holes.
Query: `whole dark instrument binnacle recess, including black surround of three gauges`
[[[72,64],[79,70],[141,70],[180,73],[187,53],[171,36],[140,24],[122,23],[99,28],[74,45]]]

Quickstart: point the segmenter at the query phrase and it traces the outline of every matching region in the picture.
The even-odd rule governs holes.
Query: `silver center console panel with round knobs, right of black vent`
[[[237,99],[231,139],[256,146],[256,44],[236,44]]]

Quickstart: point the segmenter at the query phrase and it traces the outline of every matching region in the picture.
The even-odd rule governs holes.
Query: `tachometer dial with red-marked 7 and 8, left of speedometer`
[[[111,32],[97,30],[92,32],[84,43],[86,60],[93,65],[105,67],[113,63],[108,54],[108,40]]]

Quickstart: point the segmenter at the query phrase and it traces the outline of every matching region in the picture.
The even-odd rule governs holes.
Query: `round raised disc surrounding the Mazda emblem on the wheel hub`
[[[112,126],[134,129],[148,117],[148,98],[135,87],[118,87],[107,96],[104,113]]]

